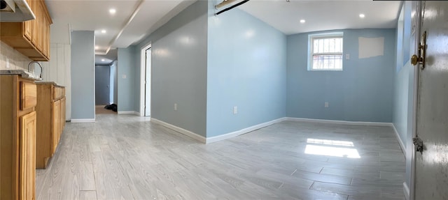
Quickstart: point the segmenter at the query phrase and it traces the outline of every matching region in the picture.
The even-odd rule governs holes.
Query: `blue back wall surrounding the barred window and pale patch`
[[[308,71],[309,33],[288,36],[286,115],[392,122],[395,29],[336,31],[344,32],[344,55],[350,54],[350,59],[343,61],[342,71]],[[384,37],[384,56],[358,59],[358,37]],[[329,103],[328,108],[324,107],[325,102]]]

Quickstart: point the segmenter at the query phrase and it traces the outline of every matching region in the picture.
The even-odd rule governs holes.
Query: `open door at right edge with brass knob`
[[[423,1],[424,68],[419,72],[414,199],[448,199],[448,1]]]

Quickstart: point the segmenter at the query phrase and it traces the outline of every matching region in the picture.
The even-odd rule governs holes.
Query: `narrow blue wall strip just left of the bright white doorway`
[[[135,46],[118,48],[118,111],[134,111],[134,99],[138,98],[135,70],[139,70],[139,65],[134,58],[135,54]]]

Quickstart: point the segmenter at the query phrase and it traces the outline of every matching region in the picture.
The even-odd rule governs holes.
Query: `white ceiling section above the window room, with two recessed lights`
[[[239,8],[290,35],[334,29],[394,28],[400,5],[400,1],[372,0],[251,0]],[[360,13],[365,14],[363,19]]]

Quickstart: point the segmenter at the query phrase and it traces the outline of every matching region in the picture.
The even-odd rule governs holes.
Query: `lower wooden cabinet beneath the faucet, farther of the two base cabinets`
[[[54,82],[36,82],[38,118],[36,169],[45,169],[55,154],[65,125],[65,89]]]

